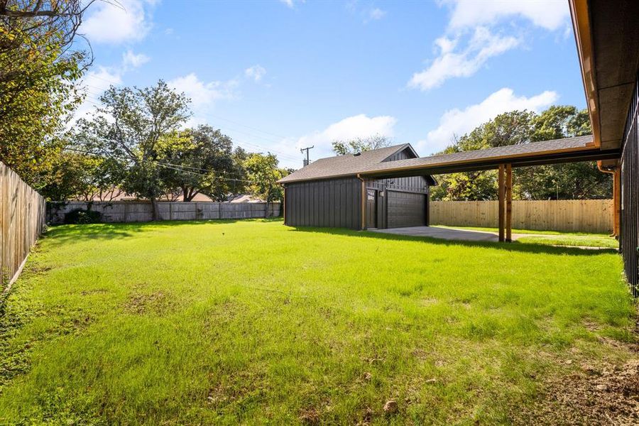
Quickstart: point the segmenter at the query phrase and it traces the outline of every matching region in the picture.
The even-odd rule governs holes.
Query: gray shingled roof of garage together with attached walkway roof
[[[604,158],[606,155],[614,155],[599,151],[594,147],[592,135],[576,136],[573,138],[553,139],[552,141],[522,143],[520,145],[499,146],[476,151],[463,151],[459,153],[430,155],[429,157],[411,158],[409,160],[384,161],[389,156],[410,146],[389,146],[373,151],[361,153],[361,155],[338,155],[337,157],[322,158],[307,165],[305,168],[279,180],[280,183],[297,182],[300,180],[317,180],[337,178],[349,175],[381,176],[387,173],[414,170],[414,175],[427,175],[436,173],[451,173],[457,168],[492,167],[497,163],[512,162],[516,164],[546,158],[548,155],[555,157],[584,155],[584,160],[591,159],[586,156]],[[576,154],[577,153],[577,154]],[[549,160],[552,163],[554,160]],[[557,162],[557,161],[554,161]],[[405,173],[404,173],[405,174]]]

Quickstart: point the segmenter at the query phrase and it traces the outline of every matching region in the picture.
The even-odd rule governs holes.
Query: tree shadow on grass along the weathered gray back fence
[[[124,239],[146,231],[168,229],[173,226],[202,226],[207,224],[233,224],[236,222],[283,222],[281,217],[253,219],[210,219],[210,220],[166,220],[158,222],[121,222],[111,224],[75,224],[49,226],[43,239],[47,244],[58,246],[67,241],[89,239]]]

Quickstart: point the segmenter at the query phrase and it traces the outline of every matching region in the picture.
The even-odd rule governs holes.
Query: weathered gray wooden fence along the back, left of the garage
[[[87,209],[81,201],[49,202],[47,222],[61,224],[65,214],[75,209]],[[148,222],[153,219],[153,209],[148,201],[93,202],[91,209],[102,214],[102,222]],[[163,220],[249,219],[280,215],[280,203],[266,202],[158,202]]]

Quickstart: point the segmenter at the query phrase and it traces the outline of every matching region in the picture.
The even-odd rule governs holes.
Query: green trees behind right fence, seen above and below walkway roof
[[[591,133],[586,110],[552,106],[540,114],[511,111],[466,133],[443,153],[547,141]],[[452,173],[437,177],[433,200],[494,200],[495,170]],[[611,197],[611,178],[599,172],[595,162],[565,163],[517,168],[513,173],[513,197],[518,199],[584,199]]]

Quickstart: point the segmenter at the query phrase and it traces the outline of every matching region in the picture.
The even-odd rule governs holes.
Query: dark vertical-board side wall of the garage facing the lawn
[[[285,188],[287,225],[360,229],[361,180],[311,180]]]

